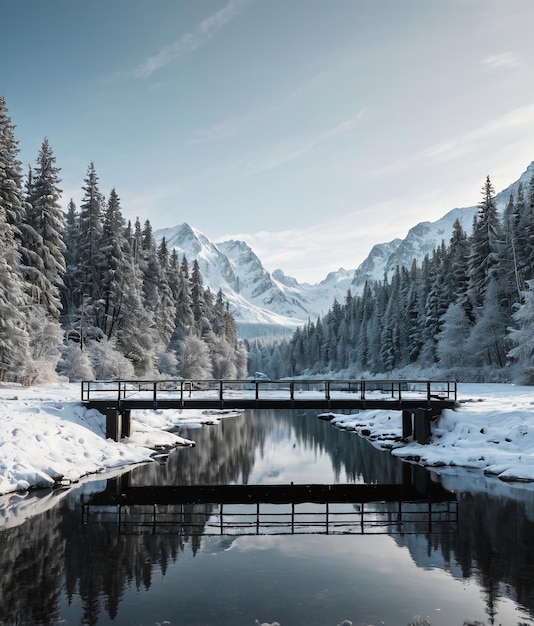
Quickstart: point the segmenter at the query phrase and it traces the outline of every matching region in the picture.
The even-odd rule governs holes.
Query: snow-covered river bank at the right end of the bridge
[[[534,481],[534,388],[458,385],[459,408],[443,411],[429,444],[401,441],[401,411],[335,415],[331,423],[425,467],[482,470],[502,481]]]

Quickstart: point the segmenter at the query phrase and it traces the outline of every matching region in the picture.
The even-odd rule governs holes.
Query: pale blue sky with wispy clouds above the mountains
[[[0,93],[65,206],[238,236],[316,282],[534,160],[530,0],[16,0]]]

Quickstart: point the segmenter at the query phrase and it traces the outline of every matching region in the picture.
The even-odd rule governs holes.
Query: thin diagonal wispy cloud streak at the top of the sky
[[[229,0],[228,4],[206,18],[191,32],[165,46],[157,54],[149,57],[133,72],[136,78],[148,78],[155,71],[176,61],[180,57],[195,52],[206,44],[223,26],[236,17],[240,10],[254,0]]]

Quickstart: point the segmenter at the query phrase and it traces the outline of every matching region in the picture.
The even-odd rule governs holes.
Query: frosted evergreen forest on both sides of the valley
[[[534,384],[534,176],[502,214],[488,176],[421,263],[346,294],[289,339],[237,337],[198,263],[127,222],[90,163],[80,207],[61,207],[47,139],[24,174],[0,98],[0,379],[443,377]]]

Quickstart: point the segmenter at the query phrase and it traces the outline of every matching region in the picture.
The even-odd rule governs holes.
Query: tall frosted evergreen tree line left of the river
[[[61,208],[47,139],[24,176],[0,97],[0,374],[28,384],[84,378],[239,378],[247,354],[222,292],[198,263],[126,222],[91,163],[79,210]]]

